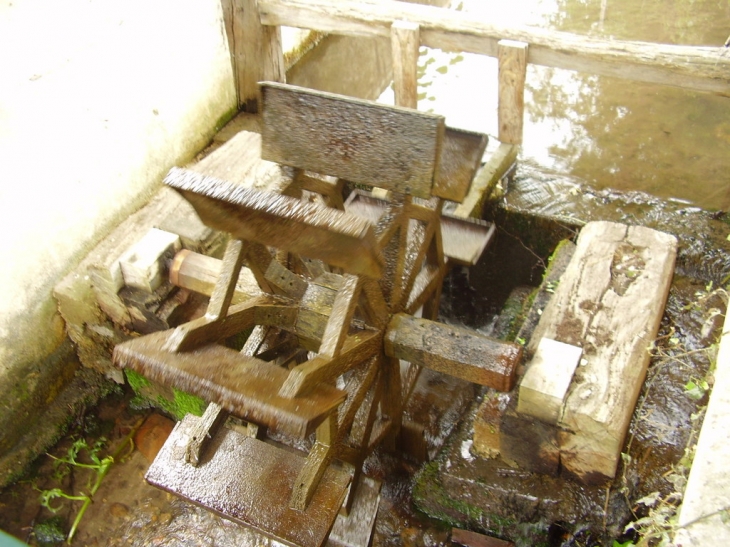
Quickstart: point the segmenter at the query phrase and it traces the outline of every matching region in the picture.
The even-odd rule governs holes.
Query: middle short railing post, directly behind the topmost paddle
[[[393,58],[393,88],[395,104],[418,107],[418,48],[420,27],[408,21],[395,21],[390,27]]]

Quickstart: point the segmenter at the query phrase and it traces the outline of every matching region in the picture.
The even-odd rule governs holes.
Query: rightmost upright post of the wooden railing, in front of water
[[[527,44],[500,40],[499,57],[499,142],[522,144],[525,111]]]

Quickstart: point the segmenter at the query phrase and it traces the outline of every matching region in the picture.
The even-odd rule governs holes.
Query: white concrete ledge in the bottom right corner
[[[674,541],[681,547],[730,545],[730,320],[720,341],[715,384],[702,425]]]

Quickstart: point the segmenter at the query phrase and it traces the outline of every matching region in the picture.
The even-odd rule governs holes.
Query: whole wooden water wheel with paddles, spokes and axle
[[[211,401],[178,424],[149,482],[316,547],[349,507],[363,460],[394,444],[421,367],[509,390],[521,348],[435,322],[448,266],[475,263],[494,233],[442,210],[466,195],[485,136],[283,84],[261,93],[262,157],[289,166],[291,184],[261,192],[171,170],[165,182],[231,241],[205,316],[120,344],[114,359]],[[387,195],[343,201],[343,181]],[[232,304],[244,265],[259,294]],[[222,343],[249,331],[240,351]],[[220,427],[228,413],[247,433]],[[261,426],[311,448],[264,442]]]

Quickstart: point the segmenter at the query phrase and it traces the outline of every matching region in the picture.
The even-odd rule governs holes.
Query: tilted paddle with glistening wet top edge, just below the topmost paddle
[[[288,196],[250,190],[173,168],[165,183],[187,199],[208,226],[345,271],[379,278],[383,259],[368,222]]]

